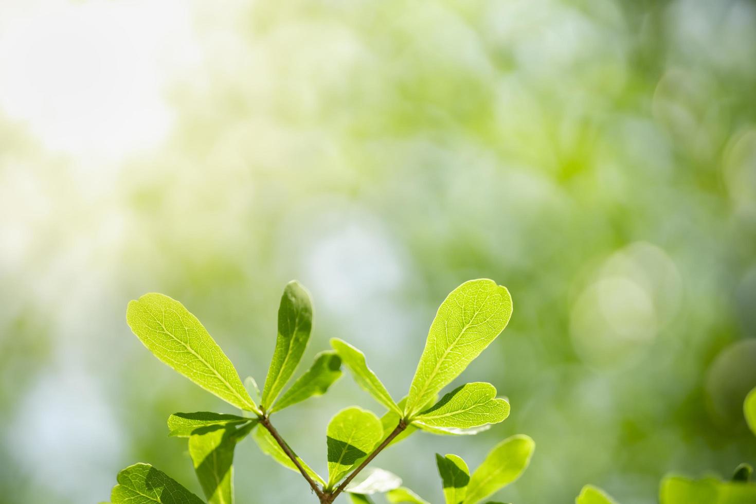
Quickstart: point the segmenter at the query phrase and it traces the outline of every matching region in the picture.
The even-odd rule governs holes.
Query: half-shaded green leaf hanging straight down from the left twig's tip
[[[234,502],[234,448],[254,427],[252,422],[238,429],[210,425],[189,438],[189,456],[209,504]]]

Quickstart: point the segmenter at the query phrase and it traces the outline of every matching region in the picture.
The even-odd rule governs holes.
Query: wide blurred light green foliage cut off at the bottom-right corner
[[[668,476],[662,480],[659,501],[661,504],[751,504],[756,502],[756,484]]]

